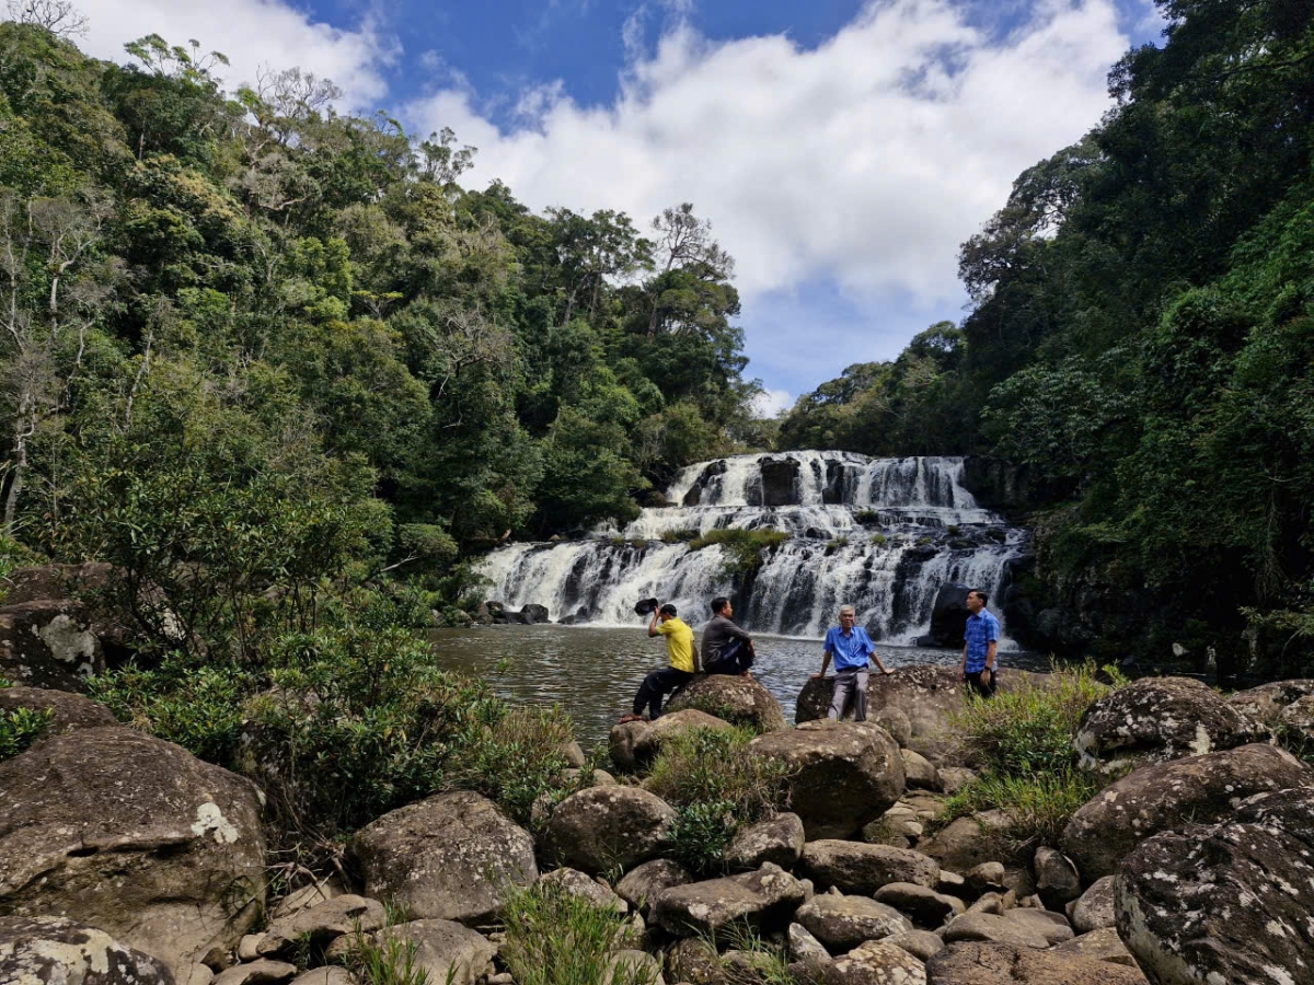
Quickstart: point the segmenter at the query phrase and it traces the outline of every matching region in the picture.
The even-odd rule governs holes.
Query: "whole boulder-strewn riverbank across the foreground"
[[[67,663],[35,625],[7,672]],[[275,856],[250,779],[5,687],[0,720],[35,732],[0,762],[0,981],[531,985],[568,959],[560,981],[599,985],[1309,980],[1314,771],[1282,746],[1314,742],[1314,682],[1007,675],[1014,724],[1085,701],[1066,753],[1095,793],[1045,835],[1020,801],[963,810],[1004,739],[951,670],[872,678],[862,725],[821,717],[828,686],[791,726],[754,682],[699,678],[612,730],[610,771],[564,750],[573,792],[530,821],[447,789],[318,873]]]

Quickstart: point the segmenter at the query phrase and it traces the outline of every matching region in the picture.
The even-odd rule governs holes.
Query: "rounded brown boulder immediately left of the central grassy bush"
[[[552,812],[547,854],[589,875],[657,858],[675,821],[661,797],[637,787],[590,787]]]

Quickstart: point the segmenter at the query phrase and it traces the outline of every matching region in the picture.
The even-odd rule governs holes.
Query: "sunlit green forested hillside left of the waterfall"
[[[226,92],[194,42],[129,51],[0,24],[11,538],[158,537],[167,565],[242,528],[307,577],[442,574],[756,440],[733,261],[691,206],[536,215],[326,80]]]

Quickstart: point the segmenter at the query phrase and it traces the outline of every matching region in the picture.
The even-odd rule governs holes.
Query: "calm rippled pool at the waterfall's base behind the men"
[[[438,665],[485,678],[498,695],[518,703],[560,704],[587,747],[604,742],[629,711],[639,682],[666,663],[666,644],[645,628],[480,626],[430,634]],[[794,700],[809,674],[821,670],[821,641],[758,636],[753,675],[781,701],[792,721]],[[887,667],[957,663],[962,650],[876,646]],[[1046,670],[1037,654],[1001,653],[1000,666]]]

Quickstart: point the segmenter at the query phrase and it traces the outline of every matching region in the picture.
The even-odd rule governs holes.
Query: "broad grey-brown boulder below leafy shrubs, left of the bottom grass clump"
[[[439,793],[399,808],[351,843],[365,894],[417,919],[481,923],[502,908],[509,884],[539,877],[533,839],[478,793]]]

